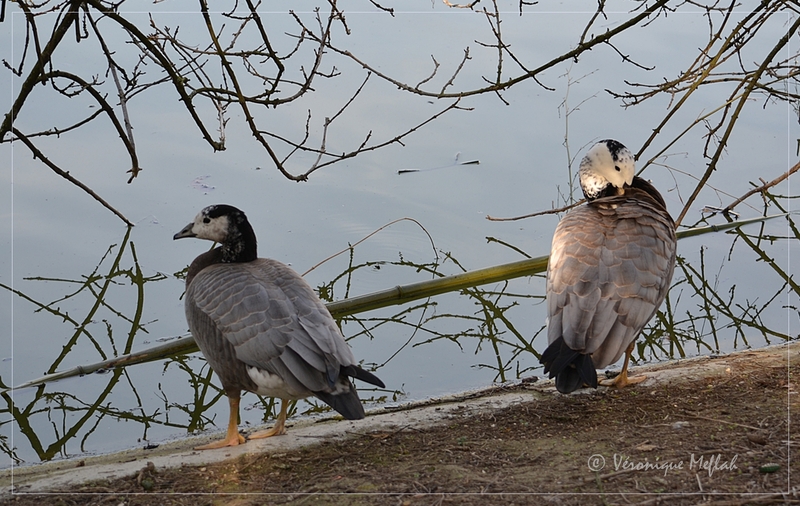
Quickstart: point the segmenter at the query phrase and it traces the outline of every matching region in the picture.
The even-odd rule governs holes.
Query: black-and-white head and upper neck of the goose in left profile
[[[219,243],[223,262],[251,262],[257,258],[256,235],[241,210],[227,204],[208,206],[197,213],[173,239],[195,237]]]

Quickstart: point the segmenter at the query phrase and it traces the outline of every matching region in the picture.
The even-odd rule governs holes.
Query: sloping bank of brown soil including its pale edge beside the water
[[[531,378],[365,420],[303,421],[4,471],[0,503],[800,504],[797,346],[636,368],[571,395]]]

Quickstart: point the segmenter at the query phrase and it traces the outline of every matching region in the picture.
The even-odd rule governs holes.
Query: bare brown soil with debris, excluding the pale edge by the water
[[[789,432],[800,365],[553,394],[417,430],[202,467],[144,467],[4,504],[800,504]],[[794,355],[792,355],[794,356]],[[525,384],[515,388],[535,388]],[[794,459],[796,460],[796,459]]]

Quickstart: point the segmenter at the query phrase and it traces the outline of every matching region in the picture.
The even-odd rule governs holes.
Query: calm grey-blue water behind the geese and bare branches
[[[584,4],[586,12],[528,11],[522,17],[516,14],[516,4],[501,4],[508,9],[502,24],[505,40],[521,61],[536,67],[574,47],[596,2]],[[168,2],[125,5],[129,11],[124,12],[143,29],[148,25],[146,12],[154,10],[158,23],[180,25],[187,39],[199,33],[199,16],[168,12],[175,9]],[[394,18],[347,12],[352,34],[339,30],[335,41],[412,85],[430,74],[433,54],[442,65],[437,79],[443,86],[465,47],[470,48],[471,60],[456,88],[479,87],[481,76],[492,78],[496,50],[475,42],[492,42],[483,14],[432,7],[430,2],[406,5],[409,12],[398,11]],[[309,12],[294,8],[303,19],[312,20]],[[141,12],[135,12],[138,9]],[[297,30],[287,10],[276,11],[268,20],[278,51],[294,44],[279,37]],[[595,31],[612,29],[628,17],[612,11]],[[747,65],[761,61],[789,19],[770,19],[760,33],[763,40],[748,46],[742,60]],[[619,139],[638,151],[668,111],[670,97],[626,109],[604,90],[626,91],[630,88],[625,81],[658,83],[678,75],[705,45],[707,26],[700,13],[659,18],[616,41],[620,51],[654,70],[625,64],[612,48],[598,47],[578,62],[540,76],[555,91],[528,80],[503,94],[507,103],[495,95],[465,99],[461,105],[471,110],[445,114],[406,138],[404,146],[395,144],[322,169],[305,183],[291,182],[272,168],[233,107],[228,148],[214,153],[166,87],[148,90],[131,103],[144,171],[130,185],[125,184],[130,163],[107,122],[95,121],[60,139],[36,139],[52,160],[136,223],[129,235],[117,217],[32,159],[24,145],[0,144],[5,161],[0,170],[0,283],[7,287],[0,290],[0,379],[16,385],[184,334],[183,281],[175,274],[208,244],[173,242],[172,235],[213,203],[245,210],[261,256],[286,262],[299,272],[393,220],[416,220],[393,224],[359,244],[352,256],[346,252],[307,274],[312,286],[325,287],[336,300],[430,279],[431,270],[453,274],[518,260],[520,252],[545,255],[557,216],[514,222],[488,221],[486,216],[516,216],[562,205],[569,192],[568,157],[577,157],[577,167],[586,146],[600,138]],[[0,24],[2,58],[18,61],[24,36],[22,16],[11,12]],[[797,42],[794,35],[792,47]],[[118,44],[118,51],[121,60],[135,61],[132,48]],[[102,55],[91,40],[65,43],[54,60],[70,71],[104,75]],[[510,59],[504,64],[509,75],[521,73]],[[321,134],[323,118],[336,114],[364,79],[357,65],[336,55],[325,65],[325,71],[335,65],[342,75],[319,79],[314,93],[261,116],[265,127],[286,136],[302,135],[311,109],[312,134]],[[735,62],[731,65],[729,70],[736,68]],[[146,70],[156,75],[152,65]],[[296,75],[298,68],[289,71]],[[0,73],[0,89],[10,90],[3,94],[4,110],[10,108],[20,82],[8,71]],[[22,131],[63,127],[92,107],[83,96],[66,101],[40,88],[16,122]],[[644,158],[718,107],[731,89],[720,84],[698,91]],[[113,88],[106,91],[113,93]],[[449,103],[404,94],[373,76],[358,100],[337,118],[328,148],[354,149],[370,131],[377,140],[391,139]],[[705,134],[704,127],[695,127],[644,174],[661,190],[674,216],[705,170]],[[794,109],[756,97],[742,113],[720,170],[684,224],[700,222],[703,206],[724,207],[752,188],[751,182],[769,181],[785,172],[796,161],[797,138]],[[473,160],[480,164],[456,164]],[[313,157],[297,157],[288,168],[302,172],[311,163]],[[405,169],[421,171],[398,175]],[[791,200],[785,196],[797,195],[789,183],[772,191],[784,196],[778,204],[787,209]],[[759,197],[748,204],[737,207],[744,218],[765,212]],[[771,205],[766,212],[779,210]],[[797,294],[781,277],[781,272],[791,273],[791,255],[798,254],[793,227],[786,219],[750,226],[746,232],[752,246],[735,234],[682,240],[675,287],[669,306],[662,307],[666,316],[654,323],[656,330],[640,348],[638,359],[727,352],[796,337]],[[332,280],[336,282],[331,293]],[[544,335],[534,338],[544,326],[543,295],[544,278],[536,276],[348,319],[343,330],[353,337],[355,355],[380,365],[377,374],[388,386],[387,392],[364,391],[362,397],[373,397],[376,404],[403,402],[541,375],[533,354],[520,350],[531,340],[536,350],[545,347]],[[203,394],[207,378],[208,368],[195,354],[5,395],[0,403],[0,466],[109,452],[142,445],[142,440],[179,438],[192,430],[221,430],[227,402],[214,390],[216,380]],[[243,405],[243,424],[262,423],[270,408],[252,394]],[[301,413],[310,409],[298,404]]]

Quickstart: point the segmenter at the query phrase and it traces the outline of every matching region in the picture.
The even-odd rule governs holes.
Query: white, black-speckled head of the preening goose
[[[633,154],[621,142],[604,139],[592,146],[581,160],[578,176],[583,194],[589,200],[616,195],[630,186],[636,167]],[[609,188],[612,187],[612,188]]]

